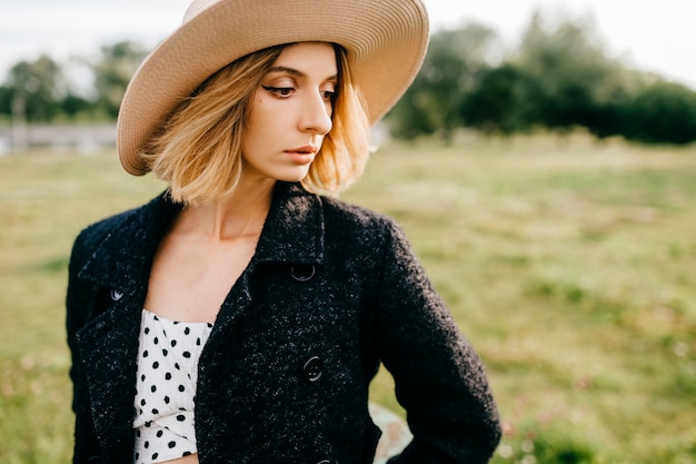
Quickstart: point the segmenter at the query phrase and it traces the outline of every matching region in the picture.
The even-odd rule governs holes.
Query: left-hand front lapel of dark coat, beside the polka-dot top
[[[79,274],[105,295],[78,343],[107,462],[132,460],[140,315],[157,247],[179,208],[163,194],[109,219],[111,233]]]

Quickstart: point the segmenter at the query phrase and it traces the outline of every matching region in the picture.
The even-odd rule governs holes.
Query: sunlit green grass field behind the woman
[[[72,239],[161,189],[112,152],[0,158],[0,463],[70,461]],[[392,144],[344,198],[404,226],[484,358],[494,463],[696,462],[696,147]]]

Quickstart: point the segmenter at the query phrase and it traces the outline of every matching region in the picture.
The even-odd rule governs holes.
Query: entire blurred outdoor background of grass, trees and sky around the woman
[[[0,462],[69,463],[70,247],[166,187],[122,171],[115,120],[188,0],[0,2]],[[493,463],[695,463],[696,3],[426,3],[342,196],[401,224],[484,359]],[[404,415],[392,386],[370,398]]]

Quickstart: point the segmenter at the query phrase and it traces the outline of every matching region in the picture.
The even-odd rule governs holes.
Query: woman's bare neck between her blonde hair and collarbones
[[[185,208],[175,231],[225,241],[261,233],[276,182],[241,182],[235,192],[215,201]]]

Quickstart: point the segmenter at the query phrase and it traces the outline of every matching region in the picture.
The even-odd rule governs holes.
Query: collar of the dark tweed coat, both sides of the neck
[[[80,278],[145,297],[159,243],[180,210],[181,205],[163,192],[140,208],[116,216]],[[299,184],[278,182],[252,261],[318,264],[322,259],[321,199]]]

